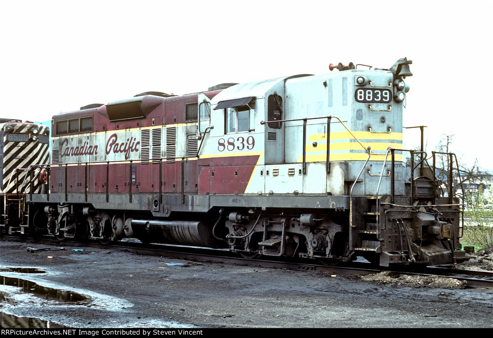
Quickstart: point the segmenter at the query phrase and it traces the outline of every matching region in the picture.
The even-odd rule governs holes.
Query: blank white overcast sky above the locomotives
[[[201,92],[413,61],[404,126],[493,170],[492,1],[4,1],[1,117],[47,121],[145,91]],[[404,131],[419,146],[419,129]],[[490,149],[490,150],[489,150]]]

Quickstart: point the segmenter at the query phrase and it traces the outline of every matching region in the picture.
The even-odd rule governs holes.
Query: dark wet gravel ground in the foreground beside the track
[[[87,299],[64,303],[0,285],[0,311],[68,327],[493,327],[493,290],[462,289],[450,278],[443,278],[445,283],[428,277],[420,283],[405,275],[333,276],[114,249],[72,251],[80,247],[66,246],[64,251],[30,253],[28,246],[42,247],[0,241],[0,275]],[[5,267],[46,273],[9,272]]]

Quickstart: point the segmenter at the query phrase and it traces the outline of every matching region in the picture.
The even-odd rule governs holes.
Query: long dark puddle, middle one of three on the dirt
[[[75,293],[73,291],[66,291],[66,290],[54,289],[46,286],[40,286],[30,280],[26,280],[22,278],[0,276],[0,284],[20,287],[22,288],[23,292],[32,294],[36,297],[48,301],[80,304],[88,300],[86,296]]]

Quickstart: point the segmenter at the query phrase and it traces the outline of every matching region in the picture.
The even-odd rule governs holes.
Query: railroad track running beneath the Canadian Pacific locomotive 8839
[[[468,287],[479,287],[493,289],[493,272],[462,270],[444,267],[426,267],[415,271],[403,270],[400,268],[373,267],[369,263],[352,262],[337,266],[327,266],[315,264],[311,259],[298,258],[287,261],[287,259],[267,257],[263,259],[247,259],[238,257],[229,249],[212,249],[208,247],[179,246],[167,244],[143,244],[140,241],[119,241],[110,244],[100,244],[96,241],[76,242],[70,240],[59,241],[55,238],[43,237],[16,237],[2,236],[2,240],[16,241],[23,243],[42,244],[46,246],[73,246],[73,247],[96,247],[96,248],[114,248],[135,252],[140,254],[160,255],[168,258],[179,258],[193,261],[207,261],[216,263],[227,263],[246,265],[252,267],[275,268],[295,271],[317,271],[326,272],[333,275],[370,275],[382,271],[392,271],[399,274],[417,275],[417,276],[441,276],[455,278],[466,281]]]

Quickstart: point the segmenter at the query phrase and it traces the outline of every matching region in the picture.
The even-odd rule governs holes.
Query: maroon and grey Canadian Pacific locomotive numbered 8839
[[[423,151],[402,149],[411,63],[340,63],[55,115],[51,164],[31,166],[49,173],[46,188],[26,196],[25,224],[60,239],[133,237],[245,257],[463,261],[459,201],[441,197]]]

